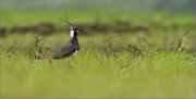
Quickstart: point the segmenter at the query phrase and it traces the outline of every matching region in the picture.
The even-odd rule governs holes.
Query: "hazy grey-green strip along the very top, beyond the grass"
[[[195,0],[1,0],[1,9],[12,11],[122,11],[122,12],[159,12],[196,13]]]

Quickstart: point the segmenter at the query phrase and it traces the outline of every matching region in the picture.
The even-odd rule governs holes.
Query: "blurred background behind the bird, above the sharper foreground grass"
[[[121,51],[119,46],[142,46],[146,38],[172,49],[191,30],[186,49],[196,49],[196,0],[0,0],[0,36],[7,39],[1,45],[30,42],[35,35],[53,35],[50,45],[62,42],[69,39],[69,26],[60,21],[66,14],[81,27],[83,47],[97,42],[100,48],[110,40]]]

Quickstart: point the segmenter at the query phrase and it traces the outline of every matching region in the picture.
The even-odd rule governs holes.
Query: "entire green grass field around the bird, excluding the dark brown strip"
[[[1,22],[5,27],[37,22],[62,24],[59,18],[63,14],[47,17],[48,15],[51,16],[4,12]],[[96,20],[96,13],[89,18],[85,18],[85,15],[76,18],[74,13],[70,13],[69,17],[74,18],[74,23],[90,23]],[[0,38],[0,97],[195,98],[195,16],[170,16],[167,13],[143,17],[106,14],[101,18],[111,24],[118,20],[143,24],[150,32],[82,34],[78,37],[81,50],[76,55],[52,61],[34,59],[37,52],[37,35],[34,33],[9,33]],[[173,24],[177,29],[173,29]],[[191,32],[186,45],[176,52],[177,41],[187,29]],[[66,33],[42,36],[39,47],[63,44],[69,39]]]

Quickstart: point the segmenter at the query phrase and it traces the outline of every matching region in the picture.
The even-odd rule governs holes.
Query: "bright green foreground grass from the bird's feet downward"
[[[82,49],[70,59],[1,54],[2,98],[193,98],[194,57],[152,52],[106,55]]]

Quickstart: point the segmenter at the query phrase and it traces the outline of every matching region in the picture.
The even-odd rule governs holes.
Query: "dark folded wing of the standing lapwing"
[[[60,48],[52,51],[53,59],[61,59],[72,55],[77,50],[77,47],[72,44],[66,44]]]

